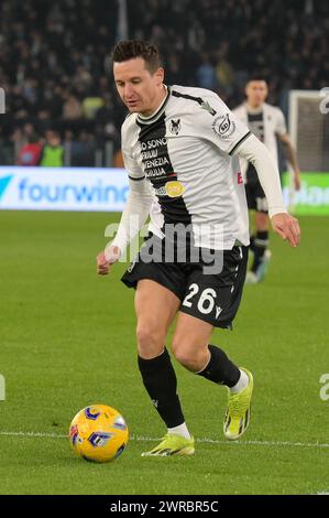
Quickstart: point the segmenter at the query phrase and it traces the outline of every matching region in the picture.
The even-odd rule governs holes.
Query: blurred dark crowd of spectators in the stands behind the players
[[[267,78],[270,101],[287,111],[290,88],[329,78],[329,3],[321,0],[127,0],[129,37],[158,44],[167,84],[210,88],[233,108],[251,74]],[[109,53],[122,36],[119,0],[2,0],[0,162],[29,162],[22,145],[80,151],[120,147],[124,108]],[[121,20],[122,21],[122,20]],[[124,28],[123,28],[124,29]],[[121,33],[120,33],[121,30]],[[51,143],[53,142],[53,144]],[[35,148],[35,149],[36,149]],[[58,153],[59,155],[61,153]],[[64,160],[64,159],[63,159]],[[84,160],[83,160],[84,164]]]

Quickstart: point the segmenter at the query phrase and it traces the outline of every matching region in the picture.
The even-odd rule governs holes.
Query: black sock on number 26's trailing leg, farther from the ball
[[[198,373],[198,376],[204,376],[215,384],[234,387],[241,376],[240,369],[216,345],[208,345],[208,348],[210,352],[209,363],[204,370]]]

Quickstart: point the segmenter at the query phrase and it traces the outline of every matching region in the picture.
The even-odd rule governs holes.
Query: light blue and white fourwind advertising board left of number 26
[[[123,169],[0,168],[0,209],[121,212]]]

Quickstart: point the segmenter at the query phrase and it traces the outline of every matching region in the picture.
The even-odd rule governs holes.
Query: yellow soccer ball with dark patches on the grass
[[[69,427],[74,452],[90,462],[109,462],[124,450],[129,438],[122,416],[107,404],[94,404],[80,410]]]

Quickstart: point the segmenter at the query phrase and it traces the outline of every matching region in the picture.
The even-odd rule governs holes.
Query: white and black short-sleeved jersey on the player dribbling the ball
[[[249,134],[213,91],[201,88],[168,87],[151,117],[128,116],[122,154],[130,179],[150,183],[150,230],[163,237],[165,224],[182,223],[191,225],[199,247],[249,245],[244,185],[234,155]]]

